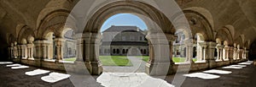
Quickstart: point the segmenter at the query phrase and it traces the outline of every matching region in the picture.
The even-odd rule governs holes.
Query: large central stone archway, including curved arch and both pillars
[[[157,47],[164,47],[163,49],[172,48],[168,47],[171,46],[168,41],[172,41],[172,33],[171,34],[165,34],[167,32],[165,31],[174,31],[172,27],[169,27],[166,29],[166,26],[172,25],[171,22],[163,16],[164,14],[161,14],[160,11],[158,11],[156,8],[153,8],[145,3],[140,2],[128,2],[128,1],[119,1],[115,3],[109,3],[108,5],[100,8],[89,20],[88,24],[86,24],[84,28],[84,38],[85,43],[85,55],[89,55],[89,57],[85,57],[85,60],[90,61],[91,65],[91,71],[92,74],[99,74],[102,71],[101,63],[98,61],[98,45],[97,42],[99,41],[98,31],[100,30],[103,22],[111,17],[114,14],[135,14],[139,18],[143,19],[145,23],[148,25],[148,40],[151,42],[149,44],[149,51],[150,51],[150,61],[148,62],[148,73],[149,74],[158,74],[163,75],[168,73],[169,68],[153,68],[154,66],[171,66],[170,61],[171,60],[171,50],[168,49],[168,51],[159,51],[154,52],[155,49],[159,50],[160,48]],[[165,21],[165,24],[162,24],[162,21]],[[158,29],[158,30],[155,30]],[[170,33],[170,32],[169,32]],[[161,35],[162,34],[162,35]],[[168,40],[165,40],[167,37]],[[163,39],[163,40],[161,40]],[[160,40],[162,42],[158,42],[157,40]],[[165,43],[165,44],[164,44]],[[162,46],[158,46],[160,44],[163,44]],[[86,48],[89,47],[89,48]],[[150,49],[151,48],[151,49]],[[88,50],[86,50],[88,49]],[[89,50],[90,49],[90,50]],[[90,52],[87,52],[90,51]],[[164,53],[164,54],[163,54]],[[160,57],[162,55],[168,55],[166,57]],[[164,63],[158,63],[158,62],[164,62]],[[165,63],[166,62],[166,63]],[[85,62],[86,63],[86,62]],[[171,67],[170,67],[171,68]]]

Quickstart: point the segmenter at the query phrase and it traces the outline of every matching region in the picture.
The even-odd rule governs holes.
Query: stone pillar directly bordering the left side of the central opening
[[[91,33],[90,35],[90,64],[92,74],[98,75],[102,73],[102,63],[99,59],[99,44],[101,38],[99,38],[98,33]],[[87,48],[88,50],[88,48]]]

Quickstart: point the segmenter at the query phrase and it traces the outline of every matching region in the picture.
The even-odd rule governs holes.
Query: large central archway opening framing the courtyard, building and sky
[[[109,17],[102,24],[100,35],[99,60],[103,72],[144,73],[149,60],[147,34],[148,26],[136,14]]]

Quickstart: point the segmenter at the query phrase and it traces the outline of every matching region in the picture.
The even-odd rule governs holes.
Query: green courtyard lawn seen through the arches
[[[148,56],[137,56],[137,57],[143,57],[143,61],[148,62],[149,57]],[[76,57],[71,58],[64,58],[64,61],[75,61]],[[132,63],[129,61],[129,59],[126,56],[100,56],[100,61],[102,62],[103,66],[132,66]],[[174,63],[183,63],[185,62],[185,57],[172,57],[172,61]],[[196,59],[193,58],[193,61],[195,62]]]

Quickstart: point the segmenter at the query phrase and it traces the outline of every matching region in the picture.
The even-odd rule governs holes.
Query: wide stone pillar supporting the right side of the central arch
[[[150,61],[146,64],[146,72],[150,75],[165,75],[170,73],[172,65],[170,63],[171,52],[170,42],[166,40],[166,35],[154,33],[147,35],[150,41]],[[154,54],[153,54],[154,53]]]

